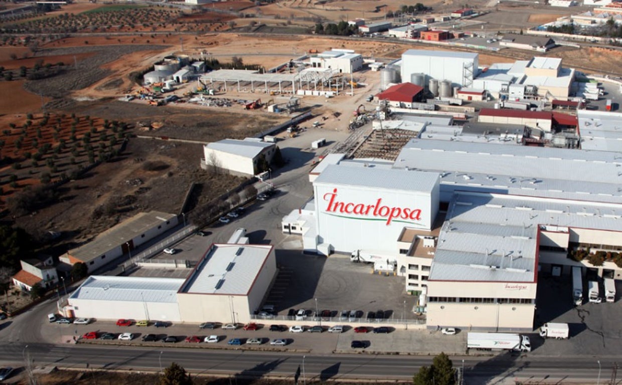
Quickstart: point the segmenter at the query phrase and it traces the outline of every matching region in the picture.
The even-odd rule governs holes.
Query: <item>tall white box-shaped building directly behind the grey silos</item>
[[[471,52],[407,50],[402,53],[402,81],[411,80],[414,73],[424,73],[426,80],[449,80],[454,86],[475,87],[479,55]]]

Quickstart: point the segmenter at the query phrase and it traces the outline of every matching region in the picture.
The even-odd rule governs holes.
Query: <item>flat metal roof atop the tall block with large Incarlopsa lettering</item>
[[[434,172],[404,172],[384,167],[329,165],[313,184],[348,185],[429,193],[439,182]]]

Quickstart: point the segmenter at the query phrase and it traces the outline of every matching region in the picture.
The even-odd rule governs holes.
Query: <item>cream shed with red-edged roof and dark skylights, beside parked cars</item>
[[[212,244],[179,290],[184,322],[249,322],[276,276],[270,245]]]

